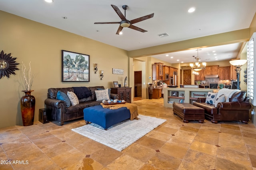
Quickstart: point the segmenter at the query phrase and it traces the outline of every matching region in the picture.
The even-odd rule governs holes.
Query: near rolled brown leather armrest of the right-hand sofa
[[[219,102],[217,108],[221,110],[250,110],[249,102]]]

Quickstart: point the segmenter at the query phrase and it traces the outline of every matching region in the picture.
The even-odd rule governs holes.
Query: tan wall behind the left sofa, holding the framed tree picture
[[[0,47],[4,53],[11,53],[16,62],[22,61],[36,73],[32,85],[32,95],[36,98],[35,121],[39,109],[44,108],[47,89],[52,87],[104,86],[113,87],[113,81],[124,83],[129,78],[128,52],[116,47],[63,31],[42,23],[27,20],[0,11]],[[90,82],[61,82],[61,50],[90,55]],[[94,74],[94,63],[98,63],[98,72]],[[20,68],[20,64],[18,65]],[[124,75],[112,74],[112,68],[124,69]],[[100,70],[104,77],[100,80]],[[24,96],[18,81],[20,70],[10,78],[0,79],[0,128],[22,125],[20,98]]]

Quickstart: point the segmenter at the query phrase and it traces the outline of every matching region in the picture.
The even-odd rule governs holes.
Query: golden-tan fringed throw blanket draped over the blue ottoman
[[[125,104],[114,104],[114,105],[104,105],[103,103],[100,104],[105,109],[119,109],[121,107],[126,107],[128,110],[130,110],[130,120],[137,119],[138,120],[138,107],[135,104],[131,103],[125,103]]]

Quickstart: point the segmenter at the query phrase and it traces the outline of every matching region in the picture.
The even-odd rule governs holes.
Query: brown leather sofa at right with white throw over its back
[[[206,98],[198,98],[193,105],[203,108],[205,118],[210,119],[212,123],[218,123],[218,121],[248,123],[251,104],[245,95],[246,92],[244,91],[236,92],[229,99],[230,102],[219,102],[217,107],[205,103]]]

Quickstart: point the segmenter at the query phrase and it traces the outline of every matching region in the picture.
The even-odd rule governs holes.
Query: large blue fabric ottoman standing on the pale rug
[[[121,107],[119,109],[104,109],[101,105],[86,107],[84,109],[84,120],[86,124],[89,122],[100,125],[105,130],[110,126],[130,119],[130,110],[126,107]]]

